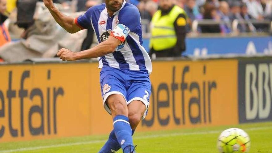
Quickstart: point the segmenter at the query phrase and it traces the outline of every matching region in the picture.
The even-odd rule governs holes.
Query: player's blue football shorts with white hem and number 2
[[[100,71],[100,86],[103,105],[109,114],[111,111],[105,101],[110,95],[120,94],[125,98],[127,105],[133,100],[142,101],[147,108],[143,118],[146,117],[151,94],[151,83],[147,72],[104,67]]]

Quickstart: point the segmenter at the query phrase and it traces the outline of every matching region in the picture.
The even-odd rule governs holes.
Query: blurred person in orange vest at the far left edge
[[[0,47],[7,42],[11,41],[9,32],[4,25],[5,20],[8,18],[5,15],[6,12],[6,0],[0,0]]]

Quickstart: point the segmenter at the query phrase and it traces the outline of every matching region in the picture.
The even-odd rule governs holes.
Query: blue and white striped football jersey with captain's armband
[[[108,16],[105,4],[93,6],[76,18],[75,23],[83,29],[92,26],[99,43],[109,35],[122,41],[115,52],[100,57],[99,68],[110,66],[151,73],[152,64],[142,46],[141,17],[136,6],[124,1],[112,17]]]

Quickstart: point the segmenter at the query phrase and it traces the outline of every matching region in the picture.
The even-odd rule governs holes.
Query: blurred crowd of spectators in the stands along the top
[[[5,0],[2,0],[5,1]],[[35,2],[37,0],[31,0]],[[26,1],[26,2],[31,2]],[[41,0],[39,0],[41,1]],[[53,0],[61,3],[64,7],[71,7],[74,12],[86,11],[89,7],[103,3],[104,0]],[[149,23],[152,16],[158,9],[159,0],[127,0],[136,5],[142,16],[144,23]],[[8,0],[8,6],[14,7],[15,0]],[[17,0],[17,4],[24,0]],[[251,23],[252,20],[262,21],[272,20],[272,0],[176,0],[176,5],[183,8],[188,15],[188,32],[191,31],[192,23],[198,19],[210,19],[221,24],[217,26],[205,26],[199,32],[232,32],[232,21],[237,19],[240,22],[240,32],[255,32],[256,28]],[[9,11],[12,8],[8,8]],[[10,12],[9,12],[10,13]]]

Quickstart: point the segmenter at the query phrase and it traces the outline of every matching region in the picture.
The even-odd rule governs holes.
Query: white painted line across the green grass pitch
[[[264,126],[264,127],[255,127],[255,128],[244,128],[245,131],[266,130],[266,129],[272,129],[272,127]],[[222,132],[222,130],[190,132],[190,133],[155,134],[155,135],[148,135],[148,136],[138,136],[138,137],[134,137],[133,139],[157,138],[157,137],[180,136],[180,135],[215,134],[220,132]],[[87,141],[87,142],[63,143],[63,144],[49,145],[49,146],[26,147],[26,148],[18,148],[18,149],[11,149],[11,150],[2,150],[0,151],[0,153],[11,153],[11,152],[18,152],[18,151],[33,151],[33,150],[39,150],[39,149],[77,146],[77,145],[84,145],[84,144],[101,143],[105,141],[107,140],[95,140],[95,141]]]

